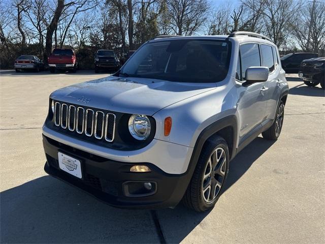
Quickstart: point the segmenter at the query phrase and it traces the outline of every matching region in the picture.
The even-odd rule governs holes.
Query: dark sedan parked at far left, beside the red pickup
[[[44,70],[44,63],[37,56],[20,55],[15,60],[14,67],[16,72],[20,72],[22,70],[35,70],[36,72],[39,72],[40,70]]]

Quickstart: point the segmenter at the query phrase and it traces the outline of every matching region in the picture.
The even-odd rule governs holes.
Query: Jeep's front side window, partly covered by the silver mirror
[[[245,79],[247,68],[261,66],[258,44],[243,44],[240,46],[240,57],[242,65],[242,79]]]

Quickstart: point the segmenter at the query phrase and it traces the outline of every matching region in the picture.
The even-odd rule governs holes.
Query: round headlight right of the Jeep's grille
[[[128,120],[128,130],[137,140],[147,139],[150,129],[150,120],[146,115],[133,114]]]

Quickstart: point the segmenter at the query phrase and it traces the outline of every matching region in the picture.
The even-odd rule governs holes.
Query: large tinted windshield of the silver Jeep
[[[217,82],[228,73],[231,43],[168,40],[145,44],[116,75],[176,82]]]

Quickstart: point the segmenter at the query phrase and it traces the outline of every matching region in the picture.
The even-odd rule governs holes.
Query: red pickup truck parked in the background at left
[[[47,60],[51,73],[55,70],[68,70],[75,73],[78,68],[77,57],[72,49],[55,48]]]

